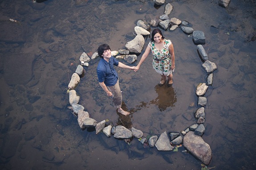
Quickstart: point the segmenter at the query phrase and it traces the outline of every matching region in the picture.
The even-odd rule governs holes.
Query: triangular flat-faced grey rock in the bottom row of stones
[[[155,147],[158,151],[172,151],[173,148],[170,144],[170,139],[166,131],[159,136],[155,143]]]

